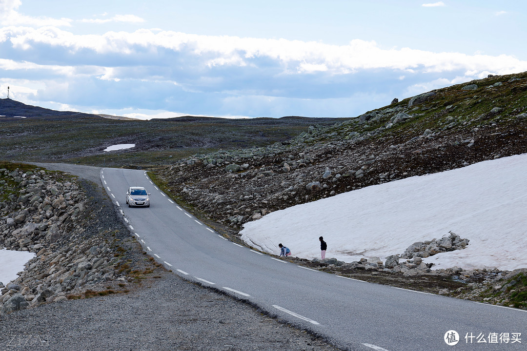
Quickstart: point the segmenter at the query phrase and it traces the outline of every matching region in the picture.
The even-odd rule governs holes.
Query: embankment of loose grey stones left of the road
[[[85,188],[90,185],[40,168],[0,169],[0,248],[36,255],[18,278],[0,285],[0,315],[128,280],[112,242],[119,230],[97,219],[101,203]]]

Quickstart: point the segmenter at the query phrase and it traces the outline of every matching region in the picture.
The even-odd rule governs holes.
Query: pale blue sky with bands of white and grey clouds
[[[0,0],[0,97],[134,118],[356,117],[527,71],[505,0]]]

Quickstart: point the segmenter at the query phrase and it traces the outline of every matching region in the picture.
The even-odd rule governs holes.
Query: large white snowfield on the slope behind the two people
[[[416,242],[453,232],[469,239],[461,250],[423,258],[432,269],[527,268],[527,154],[409,177],[272,212],[243,225],[241,239],[279,255],[344,262],[401,255]],[[400,262],[404,262],[402,259]]]

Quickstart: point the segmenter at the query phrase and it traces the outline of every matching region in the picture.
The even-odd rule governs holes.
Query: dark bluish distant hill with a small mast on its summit
[[[91,115],[81,112],[72,111],[55,111],[49,108],[26,105],[13,99],[0,99],[0,120],[8,121],[20,119],[21,117],[30,119],[77,119],[77,118],[102,118],[97,115]]]

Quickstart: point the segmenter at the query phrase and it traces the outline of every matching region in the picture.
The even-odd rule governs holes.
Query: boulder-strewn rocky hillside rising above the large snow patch
[[[311,126],[289,142],[194,155],[155,174],[181,202],[236,230],[296,204],[524,153],[526,112],[527,73],[489,76]]]

